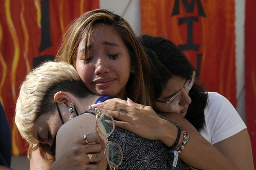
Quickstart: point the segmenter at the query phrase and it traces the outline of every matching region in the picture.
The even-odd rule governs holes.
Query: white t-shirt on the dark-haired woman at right
[[[211,144],[215,144],[246,128],[233,105],[224,96],[208,92],[205,108],[205,125],[200,133]]]

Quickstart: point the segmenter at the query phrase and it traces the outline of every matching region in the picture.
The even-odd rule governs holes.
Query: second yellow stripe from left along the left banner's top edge
[[[23,30],[23,35],[24,35],[24,51],[23,51],[23,56],[26,61],[26,68],[27,68],[27,74],[31,71],[30,65],[29,65],[29,59],[28,59],[28,54],[29,54],[29,33],[28,29],[26,27],[26,22],[24,18],[24,11],[25,11],[25,6],[24,6],[24,1],[21,0],[21,14],[20,14],[20,21],[21,21],[21,26]]]

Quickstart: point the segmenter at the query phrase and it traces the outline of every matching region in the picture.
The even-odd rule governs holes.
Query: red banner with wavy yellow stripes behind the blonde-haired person
[[[0,1],[0,102],[12,130],[12,153],[26,154],[14,125],[18,89],[41,61],[54,59],[58,42],[72,20],[99,8],[99,0]]]

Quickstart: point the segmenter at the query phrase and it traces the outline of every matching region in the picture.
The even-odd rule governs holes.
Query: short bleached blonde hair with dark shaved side
[[[39,143],[33,136],[34,123],[41,114],[57,110],[54,95],[58,91],[68,91],[79,98],[90,94],[76,69],[65,62],[45,62],[33,69],[20,86],[15,124],[28,142]]]

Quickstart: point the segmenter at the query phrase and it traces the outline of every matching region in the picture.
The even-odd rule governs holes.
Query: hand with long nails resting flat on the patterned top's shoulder
[[[161,119],[150,106],[144,106],[140,109],[140,104],[131,102],[129,99],[127,102],[128,105],[119,102],[103,102],[92,105],[92,107],[99,111],[104,110],[111,114],[113,118],[120,120],[114,121],[116,127],[129,130],[142,138],[161,140],[165,143],[167,140],[163,138],[166,136],[165,133],[169,131],[169,133],[173,132],[172,134],[175,135],[172,135],[172,139],[169,139],[165,144],[171,146],[175,142],[177,137],[177,127],[175,125]]]

